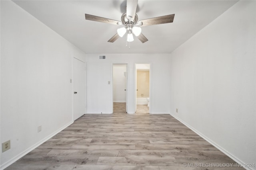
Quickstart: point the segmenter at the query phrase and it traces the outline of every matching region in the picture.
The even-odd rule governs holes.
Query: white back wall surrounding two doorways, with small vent
[[[127,63],[128,113],[135,109],[135,64],[151,64],[151,113],[170,113],[170,63],[169,54],[86,54],[87,63],[87,113],[112,113],[112,64]],[[90,100],[89,100],[90,99]]]

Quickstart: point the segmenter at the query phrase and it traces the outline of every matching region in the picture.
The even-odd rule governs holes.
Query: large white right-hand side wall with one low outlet
[[[243,163],[256,162],[255,7],[239,1],[170,59],[171,114]]]

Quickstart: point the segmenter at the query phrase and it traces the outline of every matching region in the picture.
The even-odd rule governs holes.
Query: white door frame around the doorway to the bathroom
[[[152,106],[152,63],[135,63],[135,70],[134,70],[134,113],[137,110],[137,64],[149,64],[149,98],[150,98],[150,105],[149,105],[149,114],[151,114],[151,106]]]

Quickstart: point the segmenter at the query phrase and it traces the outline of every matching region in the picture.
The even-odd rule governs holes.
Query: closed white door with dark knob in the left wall
[[[85,63],[73,58],[73,120],[86,113]]]

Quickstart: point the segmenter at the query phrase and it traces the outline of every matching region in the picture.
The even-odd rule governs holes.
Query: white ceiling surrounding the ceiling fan
[[[85,53],[171,53],[237,1],[138,0],[139,20],[175,14],[173,23],[142,27],[149,41],[134,37],[130,48],[124,37],[107,41],[121,26],[85,20],[91,14],[120,21],[125,0],[17,0],[14,1]],[[210,40],[209,40],[210,41]]]

